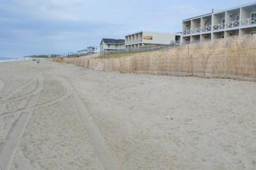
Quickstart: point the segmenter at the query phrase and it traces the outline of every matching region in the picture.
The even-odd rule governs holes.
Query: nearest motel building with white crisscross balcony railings
[[[182,22],[182,44],[256,33],[256,3],[212,11]]]

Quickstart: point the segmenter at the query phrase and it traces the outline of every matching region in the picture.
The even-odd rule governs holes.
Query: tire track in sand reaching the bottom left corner
[[[40,74],[39,78],[39,85],[38,88],[42,88],[43,86],[43,78],[42,74]],[[4,144],[0,148],[0,170],[7,170],[10,168],[10,163],[13,160],[14,154],[15,153],[15,147],[19,143],[22,133],[25,130],[30,116],[33,114],[33,106],[37,103],[39,96],[39,92],[33,96],[31,96],[27,107],[26,111],[29,111],[29,113],[26,114],[26,112],[20,111],[20,116],[19,118],[15,121],[13,124],[13,127],[11,131],[9,132],[7,139],[5,140]],[[31,110],[30,110],[31,109]],[[17,112],[18,113],[18,112]]]

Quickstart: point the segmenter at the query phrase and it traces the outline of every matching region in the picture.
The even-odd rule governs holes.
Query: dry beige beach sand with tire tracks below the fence
[[[256,84],[0,63],[0,170],[256,169]]]

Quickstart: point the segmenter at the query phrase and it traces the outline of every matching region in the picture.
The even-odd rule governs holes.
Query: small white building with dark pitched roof
[[[124,50],[124,39],[103,38],[100,42],[100,52]]]

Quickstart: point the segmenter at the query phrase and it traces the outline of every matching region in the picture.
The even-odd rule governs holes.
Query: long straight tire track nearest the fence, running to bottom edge
[[[99,127],[94,124],[92,117],[90,116],[89,112],[84,106],[84,103],[82,102],[81,98],[79,98],[79,95],[76,93],[73,87],[68,83],[68,81],[58,74],[56,69],[55,69],[55,74],[57,77],[59,77],[59,79],[63,83],[63,86],[65,86],[68,89],[68,91],[71,92],[72,94],[71,99],[73,100],[73,104],[75,105],[78,115],[82,120],[85,131],[89,135],[93,148],[98,158],[100,159],[104,169],[105,170],[119,169],[117,161],[113,158],[113,156],[109,151],[109,147],[105,138],[101,135]]]

